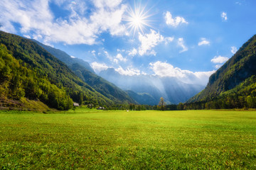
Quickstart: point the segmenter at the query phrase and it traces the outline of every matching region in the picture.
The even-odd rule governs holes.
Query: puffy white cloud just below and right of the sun
[[[155,30],[150,30],[151,33],[142,35],[139,33],[139,41],[141,46],[139,47],[139,55],[156,55],[156,52],[151,49],[158,45],[160,42],[164,41],[163,35],[156,33]]]

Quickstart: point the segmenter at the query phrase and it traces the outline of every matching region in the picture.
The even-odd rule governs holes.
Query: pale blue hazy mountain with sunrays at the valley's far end
[[[99,75],[128,91],[128,94],[140,104],[157,105],[161,97],[164,97],[168,104],[185,102],[204,88],[200,85],[185,84],[174,77],[121,75],[113,68],[106,69]]]

